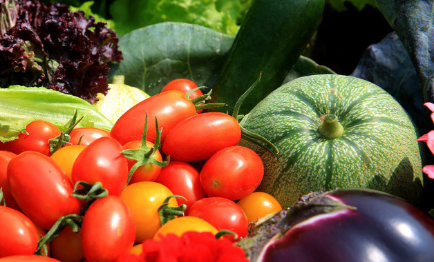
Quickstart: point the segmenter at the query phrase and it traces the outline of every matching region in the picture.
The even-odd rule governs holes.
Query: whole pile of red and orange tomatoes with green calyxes
[[[263,163],[237,145],[238,120],[202,112],[209,95],[176,79],[110,131],[33,121],[0,143],[0,258],[115,261],[144,240],[189,230],[228,230],[223,237],[236,241],[281,210],[254,192]]]

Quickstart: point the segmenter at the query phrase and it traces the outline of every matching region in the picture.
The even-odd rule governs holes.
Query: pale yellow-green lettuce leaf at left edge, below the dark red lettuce
[[[75,110],[78,118],[83,117],[77,127],[94,126],[111,130],[113,126],[93,105],[79,97],[21,85],[0,88],[0,141],[16,139],[26,125],[35,120],[49,121],[64,130]]]

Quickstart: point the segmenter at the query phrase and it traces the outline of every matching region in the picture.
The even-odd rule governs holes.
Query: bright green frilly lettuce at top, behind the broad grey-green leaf
[[[120,36],[165,21],[194,23],[236,34],[242,10],[240,0],[115,0],[110,6],[115,31]]]

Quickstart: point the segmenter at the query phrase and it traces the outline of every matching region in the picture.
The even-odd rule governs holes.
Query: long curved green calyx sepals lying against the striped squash
[[[256,79],[256,81],[254,81],[254,83],[250,85],[250,87],[244,92],[244,94],[241,95],[238,101],[236,101],[234,105],[234,111],[232,112],[232,117],[234,117],[234,119],[236,119],[238,123],[240,123],[242,139],[245,139],[246,141],[259,145],[261,148],[272,153],[273,156],[276,158],[277,154],[279,154],[279,149],[276,148],[276,145],[274,145],[273,143],[265,139],[265,137],[262,137],[260,134],[256,134],[254,132],[245,129],[243,127],[243,123],[245,122],[245,119],[247,119],[247,115],[238,115],[238,112],[240,110],[241,105],[243,104],[243,101],[250,94],[250,92],[252,92],[252,90],[256,88],[256,85],[258,85],[259,81],[261,80],[261,74],[262,72],[259,73],[259,77]]]

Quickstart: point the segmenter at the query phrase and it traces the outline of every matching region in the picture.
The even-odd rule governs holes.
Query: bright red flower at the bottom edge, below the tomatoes
[[[126,254],[118,262],[248,262],[244,251],[229,239],[216,239],[211,232],[185,232],[182,236],[167,234],[160,240],[143,242],[140,255]]]

